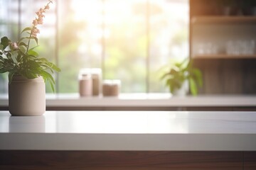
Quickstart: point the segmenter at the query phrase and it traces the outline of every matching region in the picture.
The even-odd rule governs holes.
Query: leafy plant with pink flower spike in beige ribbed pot
[[[44,8],[36,12],[32,26],[21,31],[18,41],[1,38],[0,73],[9,72],[9,112],[11,115],[41,115],[46,111],[46,86],[49,81],[54,91],[54,71],[60,69],[39,57],[37,34],[38,25],[43,24],[44,13],[53,1],[48,1]],[[32,46],[32,41],[36,44]]]

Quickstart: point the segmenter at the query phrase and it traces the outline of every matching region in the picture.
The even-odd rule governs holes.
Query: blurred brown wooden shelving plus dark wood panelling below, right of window
[[[190,57],[201,94],[256,94],[256,1],[191,0]]]

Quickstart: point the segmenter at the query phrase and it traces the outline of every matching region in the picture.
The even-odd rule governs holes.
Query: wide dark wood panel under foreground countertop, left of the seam
[[[0,151],[0,169],[242,170],[242,152]]]

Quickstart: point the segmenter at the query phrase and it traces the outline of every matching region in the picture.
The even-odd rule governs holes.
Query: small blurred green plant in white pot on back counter
[[[161,79],[165,80],[166,86],[169,87],[171,94],[186,95],[188,85],[193,96],[198,94],[198,86],[203,85],[202,73],[199,69],[194,68],[192,60],[183,60],[171,64],[168,71],[165,72]]]

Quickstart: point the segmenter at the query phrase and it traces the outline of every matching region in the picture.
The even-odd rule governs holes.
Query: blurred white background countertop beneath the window
[[[8,96],[0,95],[0,107]],[[171,96],[171,94],[120,94],[118,97],[80,97],[48,94],[48,107],[256,107],[255,95]]]

